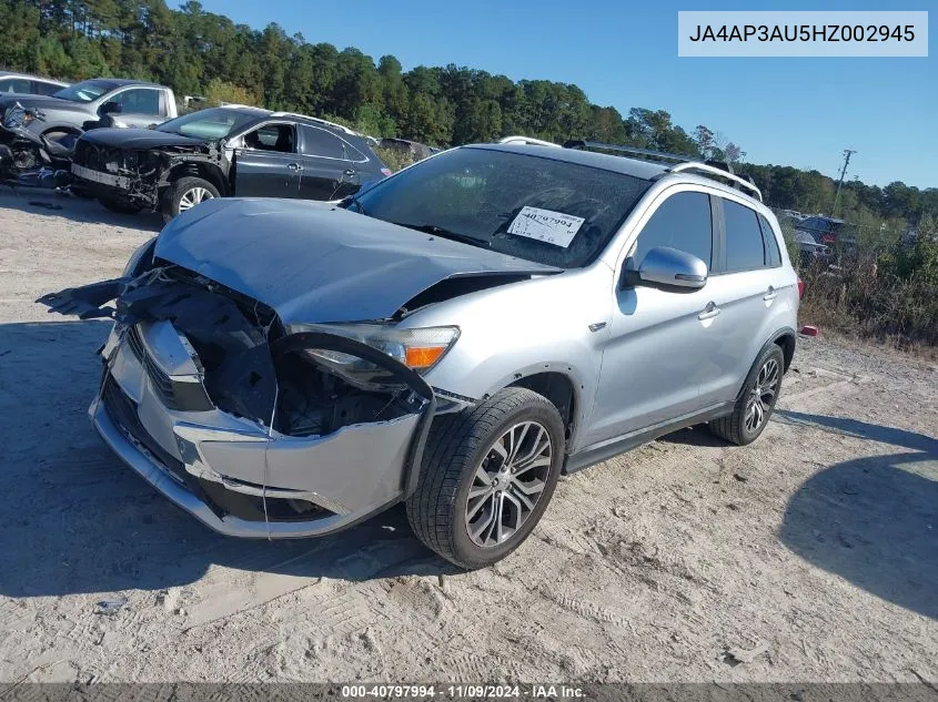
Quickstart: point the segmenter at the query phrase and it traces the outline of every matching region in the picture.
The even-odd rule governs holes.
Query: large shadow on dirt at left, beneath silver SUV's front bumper
[[[332,537],[273,542],[219,536],[178,509],[88,423],[109,329],[0,325],[0,594],[161,590],[212,564],[346,580],[456,572],[413,537],[400,507]]]

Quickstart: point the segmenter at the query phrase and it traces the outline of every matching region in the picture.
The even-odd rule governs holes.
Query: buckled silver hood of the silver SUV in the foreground
[[[324,203],[215,199],[173,220],[155,255],[272,307],[284,324],[390,318],[440,281],[558,269]]]

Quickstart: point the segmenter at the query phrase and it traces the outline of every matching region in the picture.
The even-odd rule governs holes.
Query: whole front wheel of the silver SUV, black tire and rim
[[[547,508],[564,456],[557,408],[526,388],[437,417],[407,520],[446,560],[484,568],[514,551]]]

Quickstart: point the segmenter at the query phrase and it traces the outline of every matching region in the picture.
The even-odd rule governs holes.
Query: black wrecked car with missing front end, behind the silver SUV
[[[155,210],[167,222],[230,195],[337,201],[391,174],[350,129],[243,105],[152,130],[94,130],[79,140],[72,172],[109,210]]]

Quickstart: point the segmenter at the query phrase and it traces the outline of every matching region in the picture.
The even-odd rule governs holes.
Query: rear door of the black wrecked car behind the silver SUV
[[[359,164],[367,159],[332,132],[300,124],[300,197],[341,200],[360,187]]]

